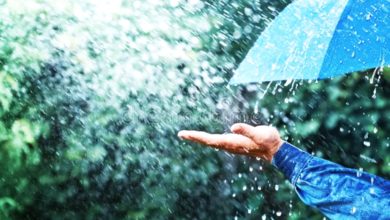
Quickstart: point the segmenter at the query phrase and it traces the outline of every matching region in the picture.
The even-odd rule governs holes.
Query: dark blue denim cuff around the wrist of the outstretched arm
[[[295,186],[300,173],[312,158],[313,156],[307,152],[284,142],[272,158],[271,163]]]

